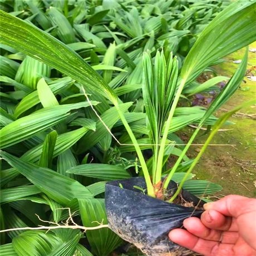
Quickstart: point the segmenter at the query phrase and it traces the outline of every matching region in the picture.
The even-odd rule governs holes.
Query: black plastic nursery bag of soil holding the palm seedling
[[[171,181],[168,193],[174,194],[176,189],[177,184]],[[180,198],[193,207],[146,195],[145,179],[141,177],[110,181],[105,191],[109,227],[149,256],[189,255],[188,249],[170,241],[168,233],[183,227],[184,219],[200,217],[203,210],[195,206],[201,207],[204,202],[186,190],[181,191]]]

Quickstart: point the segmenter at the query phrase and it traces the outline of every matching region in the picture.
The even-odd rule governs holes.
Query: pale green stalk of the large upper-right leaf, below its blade
[[[176,106],[179,102],[180,95],[181,95],[181,92],[183,91],[183,87],[184,87],[185,83],[186,83],[186,78],[183,78],[180,82],[179,89],[176,92],[176,95],[174,97],[173,105],[171,105],[171,110],[170,110],[168,119],[166,121],[164,135],[163,135],[163,138],[161,140],[159,155],[158,155],[158,159],[157,159],[155,184],[159,183],[159,181],[161,180],[162,168],[163,168],[163,159],[164,159],[164,150],[165,150],[165,145],[166,145],[166,141],[167,141],[167,136],[169,134],[171,121],[173,120],[174,111],[175,111]]]

